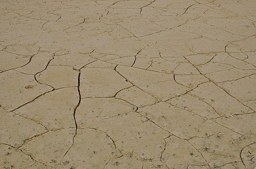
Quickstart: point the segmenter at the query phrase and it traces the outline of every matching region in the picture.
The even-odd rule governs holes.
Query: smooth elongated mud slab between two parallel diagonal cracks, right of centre
[[[201,116],[164,102],[139,108],[137,112],[182,139],[198,136],[197,128],[205,121]]]

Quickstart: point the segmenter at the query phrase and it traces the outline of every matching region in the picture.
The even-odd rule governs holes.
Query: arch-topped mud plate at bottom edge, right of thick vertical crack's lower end
[[[120,151],[104,132],[95,129],[78,129],[74,145],[62,159],[64,163],[65,161],[69,163],[66,165],[61,163],[58,167],[103,168],[115,155],[119,157]]]

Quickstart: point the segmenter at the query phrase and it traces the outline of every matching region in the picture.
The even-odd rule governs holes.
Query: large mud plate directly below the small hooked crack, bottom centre
[[[106,119],[99,124],[98,129],[106,131],[123,154],[133,152],[134,157],[141,159],[159,158],[163,150],[160,144],[169,136],[168,132],[136,112]]]

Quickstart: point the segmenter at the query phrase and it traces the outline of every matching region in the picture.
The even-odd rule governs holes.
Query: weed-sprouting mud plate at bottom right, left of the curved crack
[[[211,167],[240,161],[240,150],[253,142],[235,132],[222,132],[204,138],[192,138],[189,142],[202,153]]]

